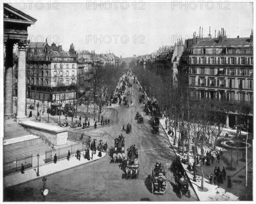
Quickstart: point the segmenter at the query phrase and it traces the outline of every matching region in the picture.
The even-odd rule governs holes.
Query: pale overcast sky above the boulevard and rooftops
[[[230,37],[250,37],[253,28],[252,3],[87,3],[12,5],[37,19],[28,28],[32,42],[55,41],[68,51],[113,52],[122,57],[151,53],[177,37],[215,35],[221,28]],[[93,1],[94,2],[94,1]],[[121,2],[121,1],[119,1]],[[100,3],[99,3],[100,4]],[[96,6],[96,7],[95,7]],[[111,8],[110,8],[111,7]],[[102,8],[102,9],[101,9]],[[96,40],[96,38],[98,40]],[[96,40],[96,41],[95,41]],[[115,42],[116,41],[116,42]]]

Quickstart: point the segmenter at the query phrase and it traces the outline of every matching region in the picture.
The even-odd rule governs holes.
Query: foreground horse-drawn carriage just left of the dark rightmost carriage
[[[163,169],[163,167],[157,164],[152,169],[150,174],[151,193],[166,193],[166,190],[167,190],[166,172]]]

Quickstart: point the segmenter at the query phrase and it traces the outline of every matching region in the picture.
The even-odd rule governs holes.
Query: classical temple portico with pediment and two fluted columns
[[[4,78],[4,116],[10,118],[13,113],[13,46],[18,43],[18,101],[17,118],[26,119],[26,45],[27,28],[37,20],[9,4],[3,4],[3,26],[5,46]]]

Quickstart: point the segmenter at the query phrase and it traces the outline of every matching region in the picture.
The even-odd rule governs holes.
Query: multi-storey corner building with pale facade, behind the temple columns
[[[52,102],[72,101],[76,99],[76,83],[79,74],[79,62],[70,45],[68,52],[60,45],[41,45],[32,43],[26,55],[26,97]],[[33,48],[33,50],[32,50]],[[15,59],[15,91],[17,96],[17,65]]]

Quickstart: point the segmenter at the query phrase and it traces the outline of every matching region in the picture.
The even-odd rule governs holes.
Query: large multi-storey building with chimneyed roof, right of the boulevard
[[[189,88],[198,98],[253,105],[253,33],[250,37],[227,38],[221,28],[218,37],[188,39],[179,71],[188,73]],[[248,113],[253,124],[253,113]],[[236,110],[227,116],[226,126],[238,125]]]

